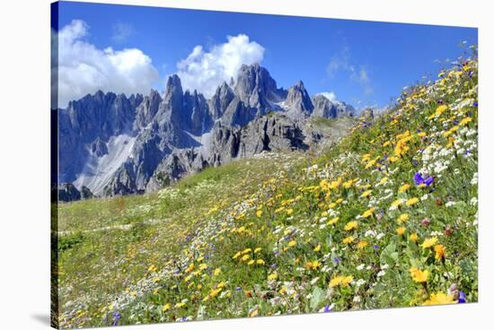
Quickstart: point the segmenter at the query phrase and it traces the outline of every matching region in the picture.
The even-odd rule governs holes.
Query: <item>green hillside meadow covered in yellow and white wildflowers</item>
[[[477,160],[469,60],[317,157],[61,205],[61,326],[477,301]]]

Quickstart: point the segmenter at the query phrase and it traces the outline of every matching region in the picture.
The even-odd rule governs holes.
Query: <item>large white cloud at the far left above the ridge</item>
[[[53,33],[58,38],[58,107],[98,90],[149,92],[159,78],[151,58],[137,48],[96,48],[85,40],[88,29],[75,20]]]

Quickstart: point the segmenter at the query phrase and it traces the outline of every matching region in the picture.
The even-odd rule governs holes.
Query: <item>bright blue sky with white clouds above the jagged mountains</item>
[[[74,48],[75,39],[93,52],[79,59],[84,50],[74,48],[66,58],[75,59],[60,60],[60,65],[67,67],[66,77],[81,75],[80,80],[60,78],[66,86],[62,93],[66,92],[68,99],[96,87],[129,93],[150,85],[163,91],[165,77],[177,72],[191,88],[211,90],[211,84],[226,76],[214,70],[226,70],[221,61],[225,49],[230,49],[234,56],[239,53],[241,61],[260,60],[279,86],[288,88],[302,80],[311,95],[331,92],[338,100],[356,107],[383,107],[400,94],[403,86],[427,75],[435,78],[447,59],[463,54],[465,49],[459,47],[462,41],[467,41],[467,46],[477,43],[477,30],[472,28],[114,4],[61,3],[58,19],[58,30],[71,26],[74,20],[84,22],[84,31],[70,37],[73,39],[64,44],[69,46],[64,47]],[[239,35],[247,39],[227,39]],[[233,43],[236,46],[228,48]],[[197,49],[198,54],[183,61],[197,46],[202,47]],[[135,56],[125,57],[136,65],[127,71],[119,61],[127,54],[125,49],[136,50]],[[110,66],[95,64],[98,67],[93,70],[92,63],[103,62],[98,56],[110,59]],[[120,63],[118,68],[111,67],[115,61]],[[207,66],[207,72],[198,68],[201,65]],[[226,67],[230,70],[235,65]],[[192,79],[193,74],[208,76]],[[133,83],[138,77],[143,77],[142,82]]]

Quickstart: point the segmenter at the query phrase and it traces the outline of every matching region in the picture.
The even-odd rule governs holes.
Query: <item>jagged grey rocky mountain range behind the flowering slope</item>
[[[311,117],[355,115],[344,102],[322,95],[311,99],[302,82],[288,91],[278,88],[257,64],[242,65],[236,79],[220,84],[210,100],[183,91],[173,74],[163,96],[97,91],[56,111],[58,181],[73,185],[62,189],[67,199],[75,190],[82,198],[142,193],[235,158],[304,150],[327,137],[307,126]]]

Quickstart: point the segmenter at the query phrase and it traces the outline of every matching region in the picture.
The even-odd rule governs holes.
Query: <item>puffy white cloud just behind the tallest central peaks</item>
[[[236,78],[241,65],[262,61],[264,48],[247,35],[228,36],[227,40],[208,52],[202,46],[196,46],[187,58],[177,64],[177,74],[184,90],[198,90],[207,98],[211,97],[219,84]]]

